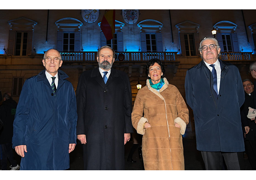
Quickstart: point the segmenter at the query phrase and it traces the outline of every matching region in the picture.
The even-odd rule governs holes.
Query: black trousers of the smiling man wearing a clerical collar
[[[244,141],[244,146],[252,170],[256,170],[256,140],[246,140]]]

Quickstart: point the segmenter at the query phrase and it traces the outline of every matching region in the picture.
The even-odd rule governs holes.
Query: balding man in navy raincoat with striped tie
[[[21,170],[65,170],[76,145],[76,98],[69,77],[59,70],[61,54],[44,54],[45,70],[28,78],[13,123],[13,147]]]

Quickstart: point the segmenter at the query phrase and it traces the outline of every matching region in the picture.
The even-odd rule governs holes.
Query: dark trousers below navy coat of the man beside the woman
[[[206,170],[224,170],[223,158],[228,170],[244,170],[242,152],[201,151]]]

